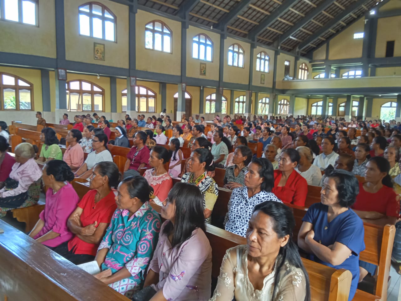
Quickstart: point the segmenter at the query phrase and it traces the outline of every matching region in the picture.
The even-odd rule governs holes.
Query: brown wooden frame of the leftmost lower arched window
[[[4,82],[4,79],[8,76],[14,78],[14,85]],[[10,91],[5,91],[7,89],[14,90],[14,96],[10,95]],[[30,94],[30,106],[29,104],[25,104],[26,102],[21,101],[21,92],[23,90],[26,90]],[[0,72],[0,99],[0,110],[2,111],[33,111],[33,84],[17,75]],[[7,108],[9,104],[14,104],[14,108]]]

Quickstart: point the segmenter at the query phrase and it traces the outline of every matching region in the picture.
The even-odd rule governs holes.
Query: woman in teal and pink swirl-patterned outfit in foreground
[[[95,277],[128,298],[142,287],[159,237],[160,216],[149,204],[150,194],[140,176],[119,184],[117,209],[95,257],[103,270]]]

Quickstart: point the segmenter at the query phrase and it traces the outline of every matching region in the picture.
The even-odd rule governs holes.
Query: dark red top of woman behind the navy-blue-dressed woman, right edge
[[[359,193],[351,208],[359,211],[376,211],[398,218],[400,205],[393,188],[383,185],[376,193],[370,193],[365,191],[363,183],[359,183]]]

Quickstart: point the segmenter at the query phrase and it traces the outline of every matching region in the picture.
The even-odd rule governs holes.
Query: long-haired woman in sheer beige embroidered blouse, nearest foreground
[[[308,273],[293,240],[291,209],[265,201],[252,211],[247,245],[227,250],[211,300],[310,301]]]

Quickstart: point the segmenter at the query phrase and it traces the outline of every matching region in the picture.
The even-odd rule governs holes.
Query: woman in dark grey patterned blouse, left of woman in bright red
[[[238,139],[237,139],[238,141]],[[224,188],[234,189],[245,186],[244,177],[248,171],[248,164],[252,160],[252,151],[248,146],[239,145],[234,150],[234,166],[227,167],[224,176]]]

